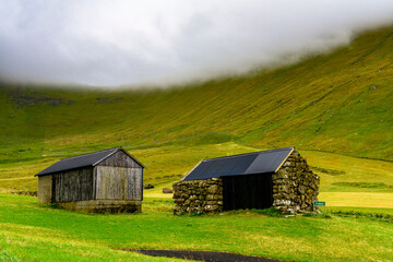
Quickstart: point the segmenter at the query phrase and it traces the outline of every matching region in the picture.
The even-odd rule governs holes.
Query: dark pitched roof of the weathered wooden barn
[[[95,166],[118,151],[124,152],[127,155],[129,155],[132,159],[134,159],[142,167],[145,167],[139,160],[136,160],[133,156],[131,156],[127,151],[124,151],[122,147],[115,147],[115,148],[110,148],[110,150],[98,151],[98,152],[91,153],[91,154],[85,154],[85,155],[60,159],[59,162],[45,168],[43,171],[38,172],[35,176],[44,176],[44,175],[50,175],[53,172],[81,168],[81,167]]]

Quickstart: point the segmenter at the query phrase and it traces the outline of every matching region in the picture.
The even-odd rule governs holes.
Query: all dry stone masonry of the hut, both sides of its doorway
[[[273,174],[273,206],[282,214],[315,211],[320,178],[303,157],[294,150],[279,169]],[[175,214],[223,212],[223,180],[211,178],[174,183]]]

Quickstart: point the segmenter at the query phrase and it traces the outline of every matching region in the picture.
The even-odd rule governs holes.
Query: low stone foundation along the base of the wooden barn
[[[142,212],[142,201],[86,200],[58,203],[64,210],[85,213],[134,213]]]

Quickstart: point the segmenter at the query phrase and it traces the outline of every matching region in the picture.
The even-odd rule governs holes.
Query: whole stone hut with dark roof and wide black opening
[[[314,211],[320,178],[295,147],[205,159],[174,183],[175,214],[274,206]]]

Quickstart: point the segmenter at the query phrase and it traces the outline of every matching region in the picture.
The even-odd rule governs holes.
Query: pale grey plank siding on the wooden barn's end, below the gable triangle
[[[142,200],[143,169],[138,167],[95,167],[96,200]]]

